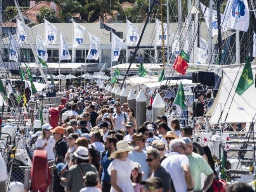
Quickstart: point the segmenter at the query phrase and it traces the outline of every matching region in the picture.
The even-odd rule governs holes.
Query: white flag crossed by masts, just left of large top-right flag
[[[204,14],[204,20],[209,28],[209,17],[210,17],[210,12],[209,12],[209,8],[204,6],[204,4],[202,4],[200,2],[201,5],[201,9],[202,9],[202,13]],[[222,18],[223,15],[220,14],[220,18]],[[221,26],[221,32],[227,31],[227,28],[225,26]],[[211,21],[211,36],[215,36],[218,35],[218,22],[217,22],[217,11],[213,10],[213,17],[212,17],[212,21]]]

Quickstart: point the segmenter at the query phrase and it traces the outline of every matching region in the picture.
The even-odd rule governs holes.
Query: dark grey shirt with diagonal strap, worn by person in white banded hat
[[[80,167],[83,171],[83,175],[85,175],[88,171],[93,171],[97,175],[99,174],[97,168],[89,163],[80,163]],[[64,173],[63,177],[67,179],[67,182],[61,184],[63,187],[70,189],[70,192],[78,192],[85,187],[83,184],[83,178],[77,165],[72,165],[69,170]]]

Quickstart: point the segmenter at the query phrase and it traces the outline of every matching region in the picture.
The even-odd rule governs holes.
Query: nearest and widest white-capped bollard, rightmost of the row
[[[156,97],[152,103],[152,121],[157,121],[157,117],[165,115],[165,104],[159,93],[156,93]]]

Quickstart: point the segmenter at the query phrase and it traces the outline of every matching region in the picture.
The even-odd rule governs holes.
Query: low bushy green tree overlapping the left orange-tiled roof
[[[52,8],[47,8],[45,6],[40,7],[39,13],[36,14],[36,20],[39,23],[44,22],[44,18],[49,22],[60,22],[60,19],[56,15],[56,11]]]

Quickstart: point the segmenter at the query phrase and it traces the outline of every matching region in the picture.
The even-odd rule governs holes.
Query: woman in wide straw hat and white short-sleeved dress
[[[121,140],[116,144],[117,150],[112,152],[110,158],[115,158],[107,168],[111,176],[110,192],[133,192],[131,183],[131,171],[135,168],[135,164],[128,157],[128,152],[137,150],[137,147],[131,147],[126,140]]]

